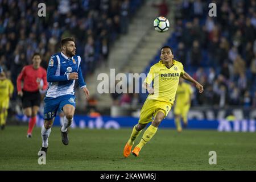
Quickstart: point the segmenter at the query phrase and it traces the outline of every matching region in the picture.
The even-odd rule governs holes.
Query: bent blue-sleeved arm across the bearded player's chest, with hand
[[[69,75],[55,75],[57,70],[57,58],[56,56],[51,57],[49,61],[49,65],[47,68],[47,81],[48,82],[59,82],[59,81],[67,81],[67,80],[77,80],[77,73],[70,73]]]

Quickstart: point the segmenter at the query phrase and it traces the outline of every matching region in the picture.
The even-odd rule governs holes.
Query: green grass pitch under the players
[[[61,142],[60,128],[49,137],[46,165],[38,164],[40,129],[26,138],[27,127],[0,131],[0,170],[255,170],[256,133],[220,133],[212,130],[159,129],[137,158],[123,158],[123,146],[132,128],[121,130],[71,129],[69,144]],[[142,136],[135,140],[139,142]],[[209,151],[217,164],[210,165]]]

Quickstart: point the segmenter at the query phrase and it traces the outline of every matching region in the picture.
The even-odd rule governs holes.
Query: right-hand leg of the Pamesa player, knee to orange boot
[[[152,137],[154,137],[156,131],[158,130],[158,126],[163,121],[163,119],[166,117],[165,111],[162,109],[159,109],[156,111],[156,115],[154,118],[154,121],[152,121],[151,125],[148,126],[147,130],[144,132],[141,142],[137,144],[137,146],[132,151],[132,154],[135,156],[139,155],[139,151],[141,151],[141,148],[151,140]]]

